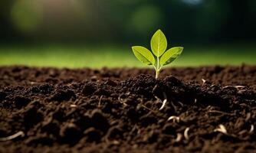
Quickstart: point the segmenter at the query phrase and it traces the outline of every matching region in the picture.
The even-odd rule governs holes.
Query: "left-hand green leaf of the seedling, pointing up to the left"
[[[153,54],[148,49],[146,49],[146,47],[133,46],[132,49],[133,49],[133,54],[142,63],[145,63],[146,65],[155,64],[155,57],[153,56]]]

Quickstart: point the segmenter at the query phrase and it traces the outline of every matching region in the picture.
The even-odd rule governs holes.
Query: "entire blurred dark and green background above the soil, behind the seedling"
[[[157,29],[171,66],[256,64],[255,0],[1,0],[0,65],[143,67]]]

